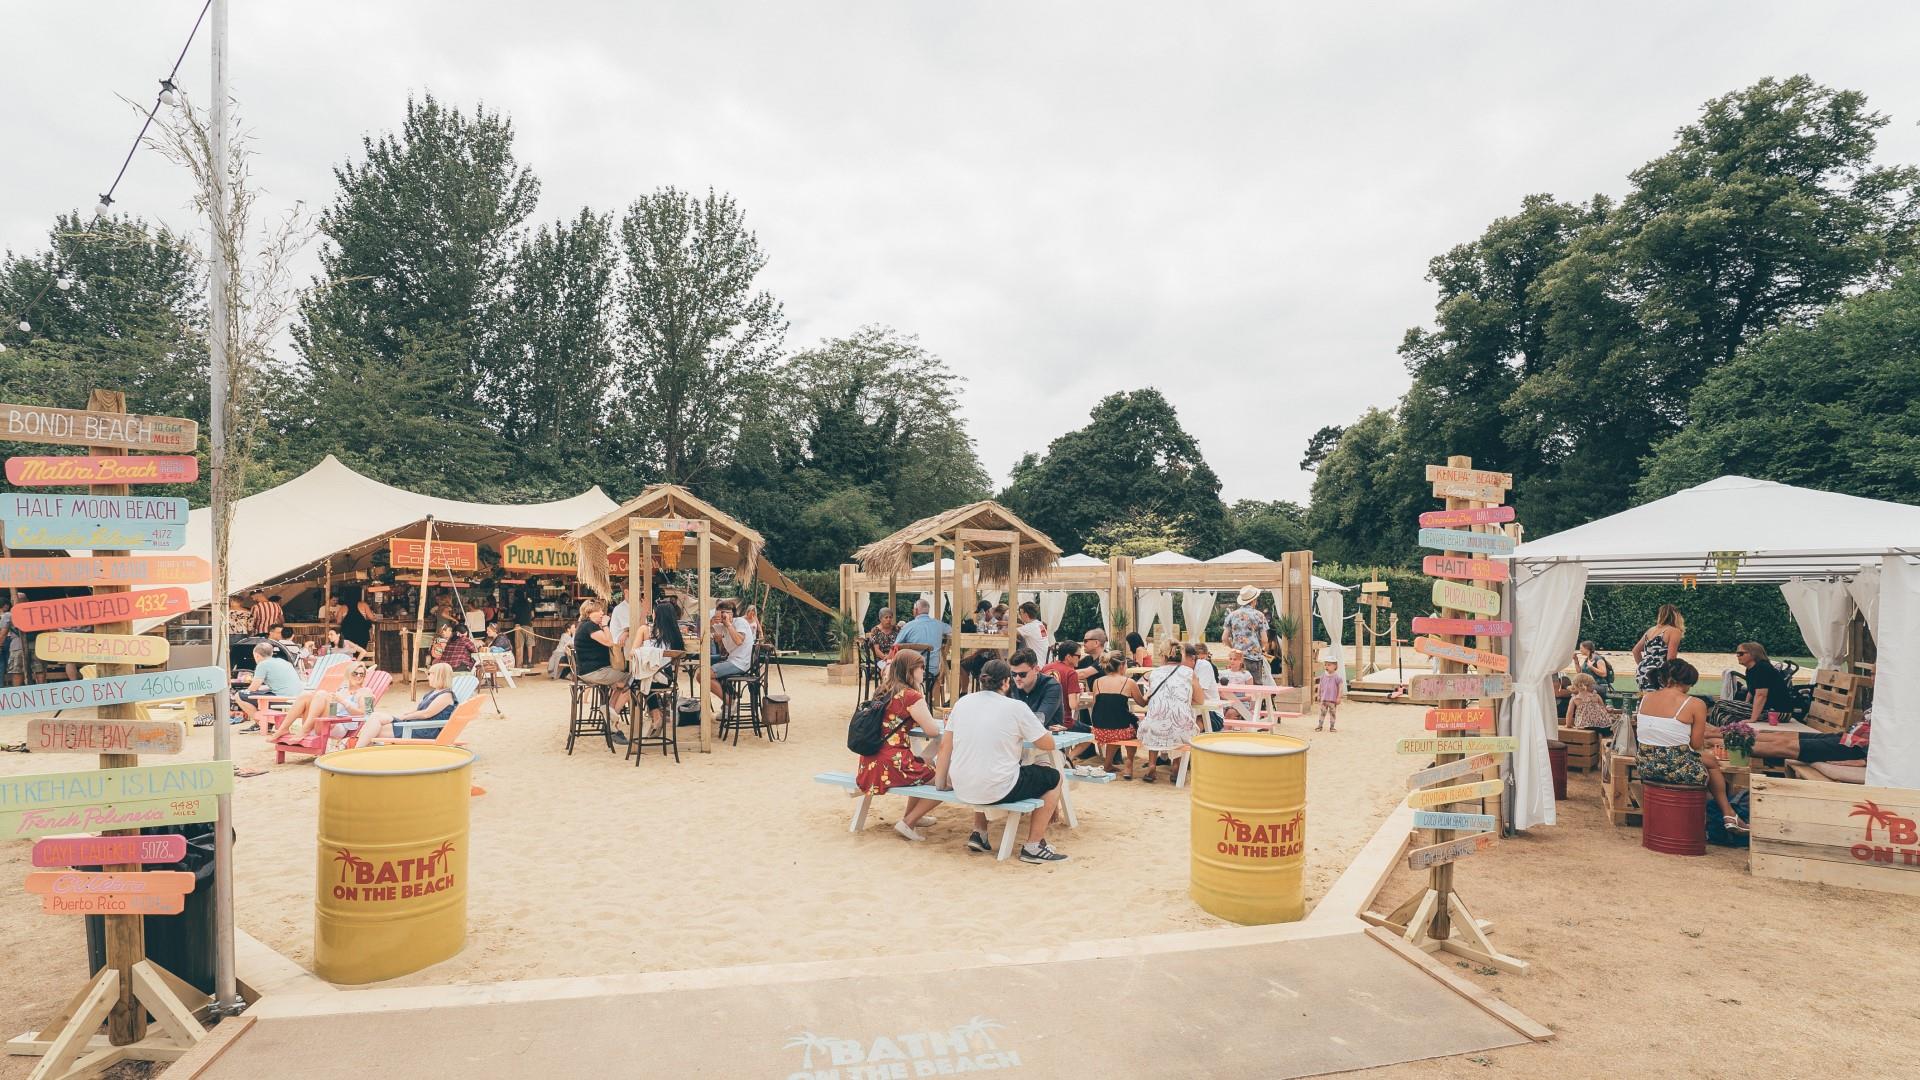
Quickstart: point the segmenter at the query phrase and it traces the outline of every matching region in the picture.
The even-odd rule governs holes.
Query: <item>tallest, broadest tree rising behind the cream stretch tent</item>
[[[540,181],[513,156],[511,121],[432,94],[361,148],[321,213],[330,244],[294,325],[309,382],[292,434],[313,457],[336,450],[419,490],[497,490],[513,450],[478,404],[478,373],[511,352],[503,294]]]

